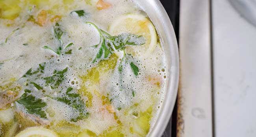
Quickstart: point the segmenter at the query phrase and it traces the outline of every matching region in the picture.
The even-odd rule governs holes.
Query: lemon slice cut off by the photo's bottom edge
[[[58,135],[47,128],[35,126],[23,130],[15,137],[58,137]]]

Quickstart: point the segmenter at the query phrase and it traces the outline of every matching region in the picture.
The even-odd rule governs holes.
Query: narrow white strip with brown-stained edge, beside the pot
[[[210,0],[182,0],[177,137],[212,136],[210,49]]]

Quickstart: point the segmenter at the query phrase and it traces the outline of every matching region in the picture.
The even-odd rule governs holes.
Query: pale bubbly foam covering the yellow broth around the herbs
[[[10,87],[18,86],[20,90],[17,94],[20,97],[24,94],[25,89],[31,90],[30,94],[46,102],[46,106],[42,108],[42,111],[46,113],[46,119],[43,121],[46,122],[39,125],[57,132],[60,136],[76,137],[85,130],[90,130],[102,137],[114,135],[115,132],[117,132],[115,134],[117,137],[122,135],[124,137],[145,136],[147,134],[142,135],[132,129],[136,128],[134,124],[137,125],[136,122],[139,121],[136,119],[143,117],[144,112],[149,111],[151,107],[151,112],[147,115],[150,129],[152,129],[160,111],[165,94],[166,78],[166,60],[160,44],[156,45],[150,56],[136,58],[136,56],[129,55],[126,58],[128,63],[124,63],[122,72],[118,69],[122,56],[113,54],[102,61],[92,62],[99,47],[91,46],[99,43],[100,35],[95,27],[85,22],[93,22],[108,32],[109,25],[121,15],[145,14],[131,0],[104,1],[112,6],[109,9],[97,10],[95,8],[97,0],[92,0],[91,4],[78,0],[69,4],[68,7],[63,5],[63,8],[59,8],[57,13],[63,15],[58,21],[61,29],[64,30],[61,37],[63,47],[73,43],[68,49],[62,49],[60,56],[51,50],[42,48],[47,45],[57,50],[59,41],[54,36],[55,22],[48,21],[45,25],[40,26],[27,21],[29,17],[26,9],[29,6],[25,4],[26,0],[19,4],[21,7],[26,7],[20,11],[19,17],[14,20],[0,18],[0,63],[2,63],[0,65],[0,92],[4,93],[10,90]],[[58,2],[50,2],[50,5],[41,7],[41,9],[51,10],[51,5]],[[85,11],[85,16],[80,17],[78,14],[72,13],[72,11],[81,9]],[[37,8],[30,12],[32,12],[31,14],[39,13]],[[7,36],[17,28],[19,30],[15,31],[5,42]],[[69,50],[72,50],[72,54],[65,54]],[[139,68],[138,76],[134,75],[130,62],[135,63]],[[38,73],[22,78],[30,68],[33,71],[37,70],[41,63],[45,63],[43,73],[39,72],[40,75]],[[65,68],[68,69],[64,74],[63,81],[54,89],[50,88],[43,78],[53,76],[54,70],[58,72]],[[38,90],[28,81],[37,83],[43,90]],[[5,85],[8,83],[12,83],[12,85],[6,87]],[[83,113],[89,114],[86,118],[76,122],[71,119],[78,117],[80,112],[66,103],[48,97],[69,97],[66,94],[69,87],[73,89],[70,93],[80,94],[80,98],[86,105]],[[76,101],[76,99],[77,97],[70,98],[71,101]],[[15,117],[19,113],[27,115],[25,117],[28,119],[27,121],[30,121],[32,116],[39,117],[37,114],[29,114],[23,105],[15,101],[0,109],[10,108]],[[0,124],[0,135],[6,135],[12,123],[19,125],[13,135],[24,128],[34,126],[25,126],[24,123],[13,117],[11,122]],[[108,134],[110,132],[113,134]]]

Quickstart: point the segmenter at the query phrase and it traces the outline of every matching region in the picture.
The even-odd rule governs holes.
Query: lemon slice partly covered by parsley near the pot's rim
[[[109,26],[109,32],[117,36],[122,33],[142,35],[146,43],[141,46],[128,46],[126,53],[138,57],[147,57],[156,47],[157,35],[154,25],[141,14],[126,14],[117,18]]]

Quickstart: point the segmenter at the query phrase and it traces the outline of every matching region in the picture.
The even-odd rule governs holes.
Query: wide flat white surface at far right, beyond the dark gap
[[[216,137],[256,137],[256,28],[213,0]]]

